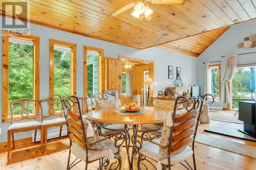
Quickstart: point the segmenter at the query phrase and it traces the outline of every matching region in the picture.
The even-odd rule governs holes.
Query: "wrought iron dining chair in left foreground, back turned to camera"
[[[82,112],[79,104],[79,99],[76,96],[68,96],[61,100],[63,112],[65,113],[69,138],[70,149],[67,169],[71,169],[77,163],[86,162],[86,170],[88,164],[99,161],[99,170],[102,167],[110,166],[110,169],[121,169],[121,157],[119,152],[122,150],[124,141],[117,143],[118,139],[124,138],[122,133],[105,137],[95,135],[92,125],[89,120],[82,117]],[[74,107],[78,107],[78,112],[74,111]],[[110,138],[115,138],[112,141]],[[119,140],[120,141],[120,140]],[[76,159],[70,163],[71,153],[75,155]],[[110,162],[109,157],[114,155],[117,160],[114,163]]]

